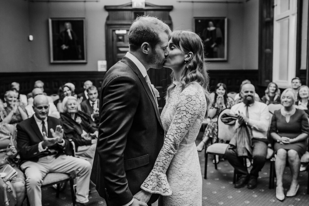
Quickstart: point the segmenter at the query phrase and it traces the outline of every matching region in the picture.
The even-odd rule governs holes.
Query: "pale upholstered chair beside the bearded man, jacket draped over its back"
[[[225,113],[230,113],[230,109],[224,109],[218,116],[218,139],[222,139],[225,141],[230,141],[235,134],[234,125],[227,125],[221,121],[221,116]],[[205,149],[205,172],[204,179],[207,179],[207,162],[208,162],[208,154],[214,155],[214,167],[217,170],[217,161],[215,155],[224,155],[225,150],[229,144],[226,143],[214,143]],[[235,181],[235,174],[234,174]]]

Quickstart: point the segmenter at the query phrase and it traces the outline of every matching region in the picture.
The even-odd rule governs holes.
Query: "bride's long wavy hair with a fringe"
[[[206,97],[207,107],[210,104],[209,98],[209,77],[206,71],[205,59],[204,59],[204,46],[201,38],[191,31],[174,31],[171,33],[169,40],[180,48],[180,45],[184,53],[193,53],[193,57],[188,62],[184,62],[184,66],[181,70],[180,83],[182,90],[191,83],[198,83],[202,86]],[[175,81],[174,73],[171,73],[172,82]],[[167,88],[166,99],[168,99],[171,90],[175,87],[175,84],[171,84]]]

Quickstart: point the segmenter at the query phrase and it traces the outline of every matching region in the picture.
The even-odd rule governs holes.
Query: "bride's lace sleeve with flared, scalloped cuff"
[[[176,101],[176,113],[166,132],[163,147],[154,168],[141,186],[145,191],[163,196],[172,194],[167,182],[166,170],[177,153],[180,142],[188,133],[188,129],[193,125],[206,103],[204,94],[192,87],[184,89]]]

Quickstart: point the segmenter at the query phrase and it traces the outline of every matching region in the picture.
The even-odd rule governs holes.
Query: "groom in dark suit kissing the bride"
[[[164,130],[146,71],[162,68],[170,32],[159,19],[138,17],[129,30],[129,52],[105,74],[91,180],[109,206],[147,205],[133,195],[155,164]]]

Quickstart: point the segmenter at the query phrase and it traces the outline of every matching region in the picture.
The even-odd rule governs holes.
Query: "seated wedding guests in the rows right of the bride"
[[[295,90],[297,91],[296,94],[294,93]],[[265,90],[265,96],[262,97],[261,102],[258,102],[255,87],[248,82],[243,82],[239,93],[241,100],[233,106],[228,104],[226,92],[224,84],[219,83],[216,86],[215,98],[208,114],[210,118],[214,119],[211,119],[207,125],[203,140],[197,146],[197,150],[201,151],[207,144],[208,139],[222,142],[216,136],[218,134],[217,128],[213,129],[217,127],[217,124],[214,126],[214,123],[217,123],[218,115],[223,109],[231,107],[231,114],[238,115],[238,120],[234,125],[236,134],[241,127],[247,127],[252,132],[252,136],[249,135],[249,142],[252,147],[249,146],[248,148],[248,157],[252,158],[250,173],[248,173],[243,162],[243,154],[240,154],[240,150],[237,149],[240,148],[237,140],[232,139],[229,142],[230,145],[224,155],[235,168],[236,173],[240,175],[239,180],[235,183],[235,188],[247,185],[249,189],[253,189],[257,186],[258,173],[266,161],[268,151],[267,133],[269,132],[276,153],[276,197],[278,200],[284,200],[285,198],[282,180],[286,162],[289,163],[292,176],[290,189],[287,191],[286,196],[295,196],[299,188],[300,159],[307,151],[308,144],[309,126],[306,113],[308,114],[309,88],[301,86],[299,78],[293,78],[292,88],[286,89],[280,94],[277,84],[271,82]],[[222,96],[222,100],[219,96]],[[267,107],[267,104],[272,103],[281,103],[281,109],[274,111],[273,114],[269,113]],[[213,114],[214,111],[215,115]]]

